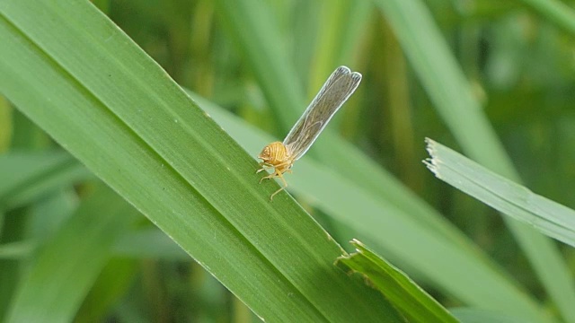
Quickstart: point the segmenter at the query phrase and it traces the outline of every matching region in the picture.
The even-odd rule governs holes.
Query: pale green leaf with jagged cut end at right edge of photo
[[[575,247],[575,211],[536,195],[443,144],[431,139],[426,142],[431,156],[426,164],[438,179],[553,239]]]

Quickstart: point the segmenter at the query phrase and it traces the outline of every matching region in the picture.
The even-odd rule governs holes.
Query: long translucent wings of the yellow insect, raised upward
[[[305,109],[304,115],[291,128],[283,144],[294,160],[298,160],[327,125],[335,112],[348,100],[361,81],[361,74],[340,66],[325,81],[320,92]]]

